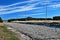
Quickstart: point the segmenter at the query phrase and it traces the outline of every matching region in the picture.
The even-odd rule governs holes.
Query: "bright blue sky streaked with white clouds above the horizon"
[[[45,18],[60,16],[60,0],[1,0],[0,17],[3,20],[12,18]]]

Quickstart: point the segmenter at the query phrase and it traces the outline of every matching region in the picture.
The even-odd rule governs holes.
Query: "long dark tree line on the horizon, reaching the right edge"
[[[9,19],[8,22],[11,22],[11,21],[29,21],[29,20],[60,20],[60,16],[54,16],[53,18],[32,18],[32,17],[27,17],[27,18],[20,18],[20,19]]]

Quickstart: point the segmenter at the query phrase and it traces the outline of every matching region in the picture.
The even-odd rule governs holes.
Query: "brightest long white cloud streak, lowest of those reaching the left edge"
[[[39,7],[37,7],[37,8],[26,7],[26,8],[22,8],[22,9],[18,9],[18,10],[16,9],[16,10],[12,10],[12,11],[7,11],[7,12],[2,11],[0,13],[2,13],[2,14],[11,14],[11,13],[15,13],[15,12],[23,12],[23,11],[29,11],[29,10],[34,10],[34,9],[39,9]],[[2,15],[2,14],[0,14],[0,15]]]

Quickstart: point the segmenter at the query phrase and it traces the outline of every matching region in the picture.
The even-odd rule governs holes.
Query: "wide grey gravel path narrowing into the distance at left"
[[[60,40],[59,28],[19,23],[5,23],[5,25],[15,28],[32,38],[32,40]]]

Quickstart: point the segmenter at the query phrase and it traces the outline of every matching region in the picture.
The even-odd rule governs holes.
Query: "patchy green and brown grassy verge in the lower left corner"
[[[0,26],[0,40],[20,40],[16,34],[9,31],[6,26]]]

